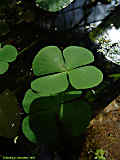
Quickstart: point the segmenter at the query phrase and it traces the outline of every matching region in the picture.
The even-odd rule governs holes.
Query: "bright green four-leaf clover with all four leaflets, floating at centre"
[[[31,83],[31,88],[41,96],[50,96],[65,91],[70,84],[75,89],[95,87],[103,79],[102,72],[95,66],[84,66],[93,61],[92,52],[86,48],[70,46],[61,53],[56,46],[45,47],[33,60],[33,72],[41,77]]]

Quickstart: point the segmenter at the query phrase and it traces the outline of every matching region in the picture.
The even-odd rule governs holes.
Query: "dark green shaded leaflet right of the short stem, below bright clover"
[[[88,126],[91,119],[91,107],[82,100],[63,104],[63,125],[65,131],[71,136],[80,136]]]

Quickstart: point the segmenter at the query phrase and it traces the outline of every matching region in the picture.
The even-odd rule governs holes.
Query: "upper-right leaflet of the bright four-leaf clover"
[[[65,58],[65,66],[68,70],[94,61],[94,56],[90,50],[77,46],[65,48],[63,56]]]

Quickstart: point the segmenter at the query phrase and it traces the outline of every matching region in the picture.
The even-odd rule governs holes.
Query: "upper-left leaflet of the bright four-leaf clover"
[[[60,49],[56,46],[41,49],[33,60],[32,68],[37,76],[64,71],[64,61]]]

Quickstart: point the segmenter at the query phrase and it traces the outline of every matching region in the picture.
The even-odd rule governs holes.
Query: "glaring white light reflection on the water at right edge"
[[[96,42],[100,45],[97,52],[103,53],[109,61],[120,65],[120,28],[117,29],[111,24]]]

